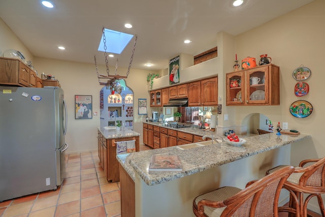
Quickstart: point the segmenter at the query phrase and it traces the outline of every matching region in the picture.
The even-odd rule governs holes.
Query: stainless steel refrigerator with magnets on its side
[[[0,202],[56,190],[68,148],[63,89],[0,86],[0,112]]]

